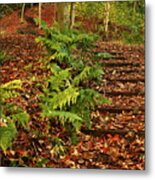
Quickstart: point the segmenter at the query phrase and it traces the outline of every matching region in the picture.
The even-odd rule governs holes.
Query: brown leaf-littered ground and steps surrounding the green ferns
[[[108,52],[113,57],[100,59],[105,75],[103,82],[94,88],[111,99],[112,104],[104,105],[92,112],[92,130],[82,129],[78,135],[77,145],[71,145],[62,137],[68,153],[56,158],[50,151],[50,131],[59,137],[63,134],[57,126],[51,126],[50,131],[47,131],[46,119],[41,121],[37,103],[40,90],[35,84],[35,78],[42,79],[48,74],[42,68],[42,61],[39,61],[45,52],[36,44],[35,35],[17,33],[17,29],[22,29],[23,26],[11,23],[12,16],[16,17],[15,13],[0,20],[1,30],[4,28],[7,34],[0,36],[0,49],[8,52],[8,60],[1,66],[0,84],[13,79],[24,80],[22,97],[10,101],[24,107],[31,115],[31,120],[30,131],[19,129],[13,147],[2,158],[2,166],[8,166],[13,162],[12,166],[143,170],[143,45],[120,45],[103,41],[97,43],[95,52]],[[25,25],[30,31],[29,27],[28,24]],[[30,81],[32,79],[33,83]]]

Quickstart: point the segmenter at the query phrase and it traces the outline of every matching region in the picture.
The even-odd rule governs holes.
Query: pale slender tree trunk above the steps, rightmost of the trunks
[[[110,3],[105,3],[105,12],[104,12],[104,31],[105,33],[108,33],[108,24],[110,20]]]

